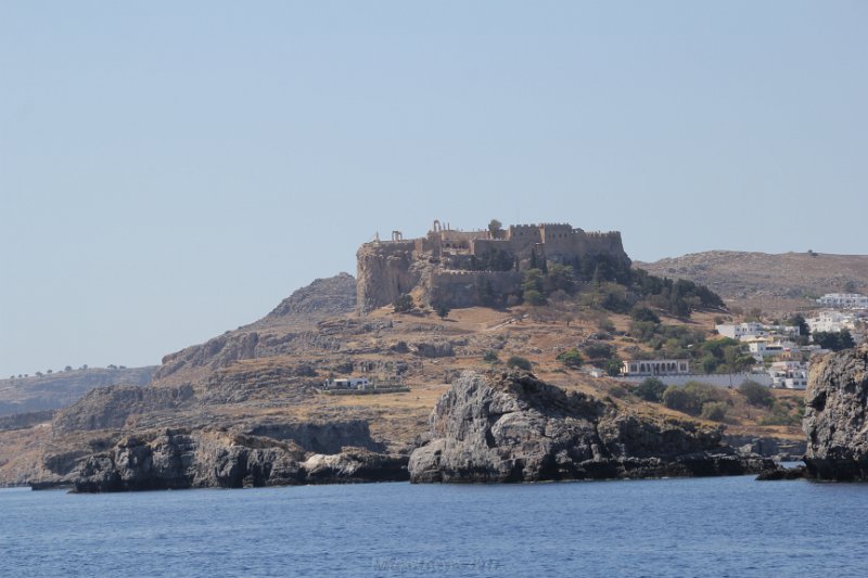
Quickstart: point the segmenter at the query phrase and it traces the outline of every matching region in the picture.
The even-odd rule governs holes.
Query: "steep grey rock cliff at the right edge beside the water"
[[[868,480],[868,345],[812,360],[802,429],[807,475]]]

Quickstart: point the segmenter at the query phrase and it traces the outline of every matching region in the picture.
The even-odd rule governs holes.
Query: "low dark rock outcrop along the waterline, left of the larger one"
[[[69,476],[77,492],[242,488],[406,480],[407,458],[344,448],[310,454],[292,441],[226,432],[165,429],[90,455]]]

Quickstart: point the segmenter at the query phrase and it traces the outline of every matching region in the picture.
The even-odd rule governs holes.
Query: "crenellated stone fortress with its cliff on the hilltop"
[[[378,237],[359,247],[357,309],[363,314],[412,293],[417,303],[472,307],[506,304],[521,293],[523,272],[547,262],[577,267],[588,258],[629,266],[621,233],[586,232],[569,223],[452,230],[434,221],[425,236]]]

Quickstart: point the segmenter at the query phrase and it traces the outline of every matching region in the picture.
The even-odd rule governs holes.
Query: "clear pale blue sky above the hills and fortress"
[[[159,363],[375,233],[868,254],[868,3],[0,3],[0,376]]]

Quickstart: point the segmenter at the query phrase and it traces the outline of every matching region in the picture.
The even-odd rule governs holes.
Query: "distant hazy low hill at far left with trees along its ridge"
[[[154,370],[155,367],[89,368],[0,380],[0,415],[60,409],[104,385],[148,385]]]

